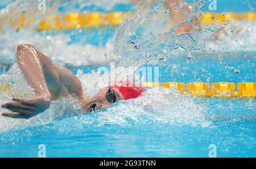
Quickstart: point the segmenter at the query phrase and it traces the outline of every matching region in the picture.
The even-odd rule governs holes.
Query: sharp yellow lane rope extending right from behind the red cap
[[[180,82],[166,82],[166,83],[154,83],[154,82],[144,82],[145,86],[148,87],[158,87],[163,86],[167,88],[175,87],[176,90],[180,91],[183,95],[192,96],[206,96],[206,97],[218,97],[218,98],[254,98],[256,99],[256,83],[245,82],[236,84],[230,82],[191,82],[180,83]]]

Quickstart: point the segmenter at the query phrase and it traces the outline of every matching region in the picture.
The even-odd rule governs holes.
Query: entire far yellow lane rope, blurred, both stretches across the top
[[[87,14],[81,14],[77,12],[49,15],[47,18],[39,22],[36,29],[38,31],[55,31],[55,30],[68,30],[77,28],[92,28],[102,26],[115,26],[123,22],[123,18],[132,17],[133,14],[125,12],[89,12]],[[205,12],[201,14],[201,25],[216,25],[227,24],[236,20],[248,20],[249,22],[255,22],[256,12],[246,12],[237,14],[235,12],[223,12],[221,14]],[[30,27],[35,18],[28,16],[27,13],[20,14],[19,20],[9,19],[10,24],[16,27],[17,30],[21,28]]]

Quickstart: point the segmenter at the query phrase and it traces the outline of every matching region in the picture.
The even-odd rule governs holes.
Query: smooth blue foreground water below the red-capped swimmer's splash
[[[205,102],[209,119],[212,114],[217,119],[211,120],[209,127],[155,121],[98,126],[70,117],[37,128],[1,133],[0,157],[37,157],[41,143],[47,147],[47,157],[208,157],[212,143],[217,146],[217,157],[255,157],[255,111],[248,111],[249,101]],[[250,102],[255,108],[255,100]],[[226,108],[230,104],[234,107]],[[83,116],[80,118],[88,118]],[[89,116],[97,119],[101,115]]]

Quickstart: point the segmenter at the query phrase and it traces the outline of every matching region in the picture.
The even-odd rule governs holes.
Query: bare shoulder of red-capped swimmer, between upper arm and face
[[[82,84],[79,79],[69,69],[59,64],[53,64],[55,70],[59,74],[61,82],[71,94],[82,96]]]

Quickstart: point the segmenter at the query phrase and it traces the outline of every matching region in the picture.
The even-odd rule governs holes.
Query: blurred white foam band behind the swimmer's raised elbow
[[[31,33],[35,33],[31,36]],[[9,32],[10,33],[10,32]],[[19,31],[13,36],[5,34],[0,36],[0,41],[5,45],[0,47],[1,64],[10,65],[15,62],[16,47],[19,44],[33,44],[41,52],[49,56],[52,62],[60,65],[90,66],[102,65],[108,60],[113,60],[113,45],[111,39],[104,47],[91,44],[69,44],[69,35],[40,35],[38,32]]]

